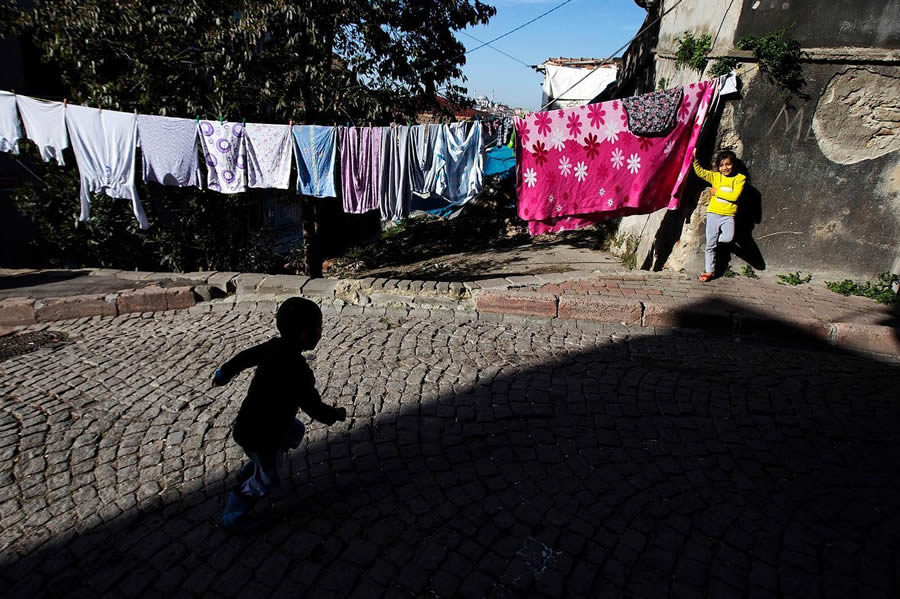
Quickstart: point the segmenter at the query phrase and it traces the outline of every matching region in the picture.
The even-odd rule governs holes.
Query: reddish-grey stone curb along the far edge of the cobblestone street
[[[262,273],[147,273],[96,269],[95,276],[125,280],[186,280],[192,286],[151,286],[112,295],[80,295],[34,300],[0,300],[0,325],[29,325],[85,316],[190,309],[262,310],[274,313],[287,297],[302,296],[342,314],[440,318],[487,322],[574,322],[577,326],[625,326],[633,330],[689,329],[728,335],[809,339],[874,353],[900,355],[900,336],[891,326],[826,322],[807,317],[768,317],[728,305],[647,301],[603,295],[538,293],[536,285],[559,275],[497,277],[479,281],[410,281],[383,278],[310,279]],[[628,274],[621,275],[628,280]],[[634,280],[645,277],[631,275]],[[231,294],[221,300],[213,297]],[[198,304],[197,301],[203,303]],[[209,301],[212,300],[212,301]]]

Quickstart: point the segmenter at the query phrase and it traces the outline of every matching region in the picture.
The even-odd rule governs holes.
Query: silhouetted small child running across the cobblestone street
[[[249,512],[261,497],[279,485],[281,457],[300,445],[306,429],[297,416],[301,409],[314,420],[334,424],[347,418],[345,408],[322,403],[316,380],[301,352],[313,349],[322,337],[322,312],[308,299],[292,297],[275,316],[279,337],[245,349],[216,370],[213,385],[225,385],[238,373],[256,373],[234,422],[234,440],[249,461],[238,474],[238,486],[225,504],[223,524],[248,531],[259,526]]]

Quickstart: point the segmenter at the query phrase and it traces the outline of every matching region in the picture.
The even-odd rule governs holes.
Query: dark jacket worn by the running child
[[[337,421],[337,408],[322,403],[306,360],[280,337],[245,349],[220,370],[229,381],[254,366],[256,373],[234,422],[234,440],[244,449],[281,448],[298,409],[325,424]]]

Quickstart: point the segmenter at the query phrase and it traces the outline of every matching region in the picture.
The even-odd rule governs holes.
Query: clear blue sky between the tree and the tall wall
[[[487,0],[497,9],[490,23],[458,31],[456,37],[471,50],[481,43],[466,34],[490,41],[564,1]],[[634,0],[572,0],[491,46],[528,65],[558,56],[608,58],[634,37],[646,14]],[[619,51],[616,55],[621,54]],[[468,89],[469,96],[490,98],[493,94],[494,100],[514,108],[540,107],[543,75],[490,46],[467,54],[463,73],[467,81],[461,85]]]

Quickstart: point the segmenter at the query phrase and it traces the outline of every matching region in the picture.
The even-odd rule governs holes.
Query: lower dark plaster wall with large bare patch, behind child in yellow
[[[807,65],[805,73],[808,101],[786,108],[777,90],[757,77],[722,117],[715,145],[729,145],[727,136],[741,140],[758,192],[751,200],[758,206],[749,207],[759,221],[747,223],[751,245],[770,269],[864,278],[897,272],[900,114],[884,107],[900,97],[885,93],[900,80],[900,68]],[[882,119],[867,125],[875,113]],[[668,268],[701,268],[703,211],[701,202],[689,216]],[[737,258],[735,265],[743,263]]]

